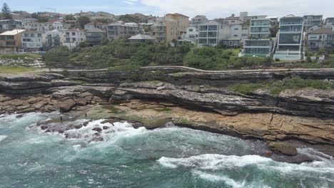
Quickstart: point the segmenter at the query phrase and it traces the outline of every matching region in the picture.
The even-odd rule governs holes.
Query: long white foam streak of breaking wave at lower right
[[[158,162],[167,168],[193,167],[205,170],[236,169],[255,165],[258,169],[273,169],[282,173],[318,172],[334,173],[334,165],[327,161],[310,162],[303,164],[289,164],[285,162],[275,162],[269,158],[258,155],[245,155],[238,157],[235,155],[215,155],[206,154],[188,158],[161,157]]]

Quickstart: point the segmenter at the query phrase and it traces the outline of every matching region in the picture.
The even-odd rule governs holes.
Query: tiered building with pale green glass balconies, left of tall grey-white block
[[[244,56],[270,57],[273,53],[273,21],[252,19],[250,38],[243,45]]]

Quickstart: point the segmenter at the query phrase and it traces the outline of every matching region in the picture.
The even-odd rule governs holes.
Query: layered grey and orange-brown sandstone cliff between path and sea
[[[228,90],[228,85],[235,83],[262,83],[295,76],[328,82],[334,79],[330,71],[197,73],[173,68],[148,68],[134,73],[76,72],[70,73],[69,78],[56,73],[1,75],[0,114],[68,112],[99,103],[138,112],[135,115],[140,121],[154,115],[160,117],[148,115],[141,108],[158,104],[168,108],[171,115],[161,116],[163,123],[142,123],[143,126],[156,128],[172,121],[245,138],[334,145],[333,90],[285,90],[279,95],[266,90],[255,90],[249,95]],[[131,117],[123,115],[125,119]]]

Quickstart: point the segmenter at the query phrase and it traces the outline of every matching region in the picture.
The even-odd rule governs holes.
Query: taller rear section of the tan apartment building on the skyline
[[[186,30],[189,26],[189,17],[184,16],[183,14],[166,14],[166,19],[172,19],[175,20],[177,23],[176,27],[176,38],[174,39],[180,39],[183,33],[186,33]]]

